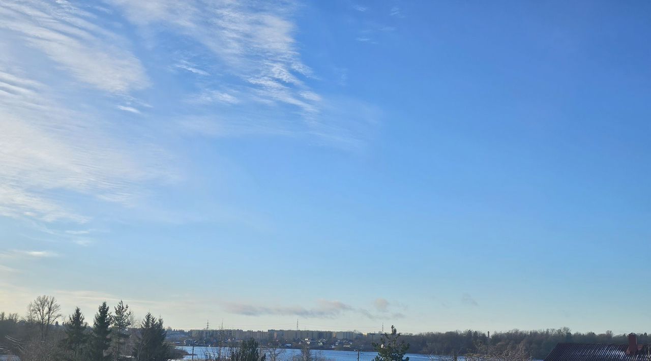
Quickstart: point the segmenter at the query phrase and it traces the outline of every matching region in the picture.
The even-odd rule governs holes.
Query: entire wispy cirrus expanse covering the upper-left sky
[[[83,209],[83,202],[133,207],[152,184],[180,178],[169,161],[173,150],[158,145],[178,140],[170,133],[363,147],[380,111],[312,87],[320,79],[301,59],[292,20],[297,7],[292,1],[0,3],[0,215],[85,223],[96,207]],[[163,33],[167,53],[153,49]],[[158,51],[155,64],[137,57],[143,49]],[[166,88],[171,96],[165,98],[166,90],[160,99],[152,87],[160,72],[182,76],[184,86]],[[344,70],[335,81],[346,77]],[[146,123],[157,107],[167,114]],[[168,138],[159,138],[169,128]]]

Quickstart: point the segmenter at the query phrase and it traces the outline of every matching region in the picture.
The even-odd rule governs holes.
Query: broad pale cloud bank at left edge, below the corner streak
[[[156,150],[128,146],[98,114],[63,107],[57,90],[12,70],[0,64],[0,215],[86,222],[57,194],[128,203],[165,172],[147,165]]]

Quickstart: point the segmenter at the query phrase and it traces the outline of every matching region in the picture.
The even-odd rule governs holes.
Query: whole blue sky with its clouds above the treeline
[[[0,310],[647,330],[643,1],[3,1]]]

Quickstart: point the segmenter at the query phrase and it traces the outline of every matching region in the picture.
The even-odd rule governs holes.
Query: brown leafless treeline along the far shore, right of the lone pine
[[[495,349],[523,350],[538,359],[545,358],[559,342],[628,343],[626,334],[615,335],[612,331],[602,334],[572,332],[566,327],[491,332],[490,339],[486,332],[475,330],[403,334],[403,337],[410,345],[410,353],[472,354],[481,353],[484,347],[490,346]],[[649,343],[651,337],[644,332],[637,334],[637,340],[639,343]]]

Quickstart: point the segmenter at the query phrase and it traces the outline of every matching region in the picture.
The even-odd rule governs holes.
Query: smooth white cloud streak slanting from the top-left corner
[[[117,35],[94,25],[91,14],[70,3],[6,0],[0,3],[0,17],[0,28],[18,34],[79,81],[116,93],[148,85],[140,61],[107,42]]]

